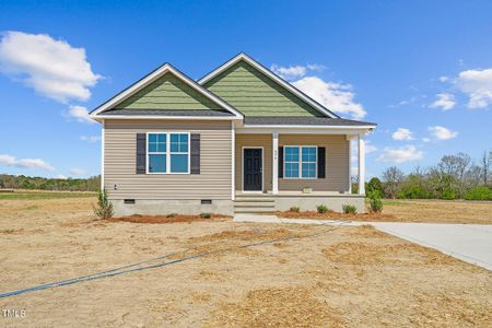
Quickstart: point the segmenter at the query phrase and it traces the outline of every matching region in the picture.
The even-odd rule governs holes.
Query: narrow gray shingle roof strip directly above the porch
[[[244,118],[246,125],[268,126],[268,125],[292,125],[292,126],[376,126],[373,122],[331,118],[331,117],[269,117],[249,116]]]

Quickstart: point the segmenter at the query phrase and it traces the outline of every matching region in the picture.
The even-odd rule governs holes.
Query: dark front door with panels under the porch
[[[243,190],[261,191],[262,150],[260,148],[244,149],[243,161]]]

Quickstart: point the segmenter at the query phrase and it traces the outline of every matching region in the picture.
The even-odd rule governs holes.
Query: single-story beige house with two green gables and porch
[[[364,209],[364,136],[376,125],[340,118],[245,54],[198,81],[164,63],[91,118],[117,215]]]

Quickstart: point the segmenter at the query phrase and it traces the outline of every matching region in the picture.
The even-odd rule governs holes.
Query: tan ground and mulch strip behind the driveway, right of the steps
[[[492,201],[384,200],[383,213],[343,214],[337,212],[277,212],[291,219],[319,219],[366,222],[421,222],[492,224]]]

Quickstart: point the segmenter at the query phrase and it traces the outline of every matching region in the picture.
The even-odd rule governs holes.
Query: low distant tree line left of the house
[[[0,174],[0,188],[8,189],[42,189],[69,191],[97,191],[101,187],[101,176],[82,178],[45,178],[25,175]]]

